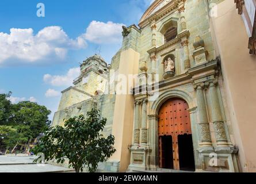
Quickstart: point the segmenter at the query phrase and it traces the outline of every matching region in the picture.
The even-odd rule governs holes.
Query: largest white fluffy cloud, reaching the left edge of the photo
[[[63,59],[68,49],[85,48],[86,41],[80,36],[70,39],[59,26],[48,26],[36,35],[33,29],[10,29],[10,34],[0,32],[0,65],[7,59],[35,63],[47,56]]]

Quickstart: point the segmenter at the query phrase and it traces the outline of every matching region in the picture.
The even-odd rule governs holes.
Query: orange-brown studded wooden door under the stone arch
[[[184,156],[186,158],[194,158],[191,155],[193,154],[193,143],[192,136],[190,136],[192,135],[192,130],[188,109],[189,106],[186,101],[180,98],[173,98],[166,101],[159,110],[159,167],[161,168],[180,170],[180,163],[182,163],[182,166],[184,165],[184,162],[180,162],[180,155],[182,160],[188,160],[184,159]],[[184,135],[185,141],[180,139]],[[189,138],[186,139],[186,137]],[[179,140],[182,140],[180,141],[182,145],[178,143]],[[182,147],[180,151],[179,145]],[[194,163],[194,160],[191,161]]]

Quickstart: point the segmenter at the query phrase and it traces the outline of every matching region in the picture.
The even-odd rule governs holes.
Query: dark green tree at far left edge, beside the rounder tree
[[[0,94],[0,125],[7,125],[12,114],[13,106],[8,99],[11,95],[11,92],[8,94]]]

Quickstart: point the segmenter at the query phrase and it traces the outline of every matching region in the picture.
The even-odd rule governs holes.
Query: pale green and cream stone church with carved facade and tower
[[[154,1],[139,26],[123,26],[111,64],[81,64],[52,125],[100,110],[117,151],[99,171],[256,171],[249,1]]]

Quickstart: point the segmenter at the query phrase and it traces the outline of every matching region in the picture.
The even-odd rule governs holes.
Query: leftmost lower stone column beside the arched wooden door
[[[133,145],[139,145],[140,143],[140,101],[135,103],[135,120],[134,120],[134,135],[133,135]]]

